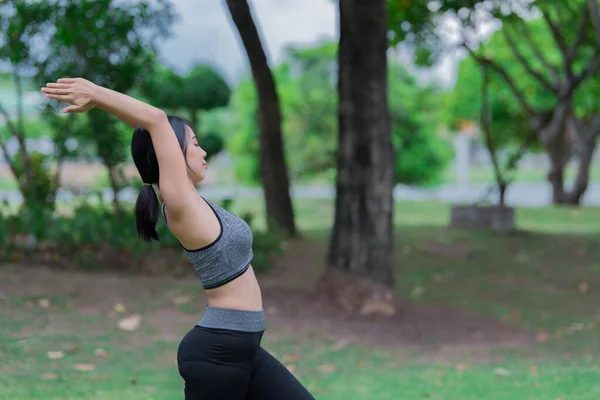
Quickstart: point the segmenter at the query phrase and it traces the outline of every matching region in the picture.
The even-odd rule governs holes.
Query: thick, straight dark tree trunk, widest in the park
[[[330,269],[394,285],[394,155],[385,0],[341,0],[339,150]]]

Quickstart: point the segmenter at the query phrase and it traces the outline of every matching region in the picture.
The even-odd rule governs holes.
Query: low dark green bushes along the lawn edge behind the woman
[[[222,204],[226,209],[231,209],[232,205],[233,200],[225,200]],[[6,210],[8,205],[4,204],[2,208]],[[22,238],[33,238],[33,245],[25,245],[27,248],[56,246],[56,250],[62,254],[86,248],[143,257],[148,251],[180,249],[162,218],[159,218],[156,227],[160,242],[148,244],[139,239],[135,231],[133,207],[123,209],[117,219],[113,204],[105,202],[101,193],[92,193],[78,201],[68,214],[42,211],[43,213],[37,209],[20,209],[17,213],[4,216],[0,212],[1,252],[9,254],[11,248],[22,247]],[[241,214],[241,217],[250,225],[254,234],[252,266],[256,271],[268,271],[273,265],[272,257],[282,251],[285,236],[258,229],[252,213]]]

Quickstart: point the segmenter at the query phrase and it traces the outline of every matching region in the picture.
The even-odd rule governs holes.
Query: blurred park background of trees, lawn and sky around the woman
[[[0,1],[0,399],[183,397],[202,315],[132,130],[191,121],[317,399],[600,396],[598,0]],[[344,105],[344,106],[340,106]]]

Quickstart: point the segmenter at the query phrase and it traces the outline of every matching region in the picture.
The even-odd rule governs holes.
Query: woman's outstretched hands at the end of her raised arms
[[[64,113],[82,113],[96,106],[96,89],[95,84],[83,78],[61,78],[56,83],[46,84],[42,92],[49,99],[69,103]]]

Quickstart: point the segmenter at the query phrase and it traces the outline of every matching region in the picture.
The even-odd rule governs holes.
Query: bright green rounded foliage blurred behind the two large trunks
[[[293,181],[334,176],[337,152],[337,62],[335,47],[295,49],[273,70],[283,113],[288,170]],[[421,87],[401,66],[389,71],[393,143],[398,154],[396,181],[433,184],[439,181],[452,153],[439,135],[442,97]],[[259,141],[255,117],[256,91],[242,81],[230,106],[227,147],[238,179],[257,184]]]

